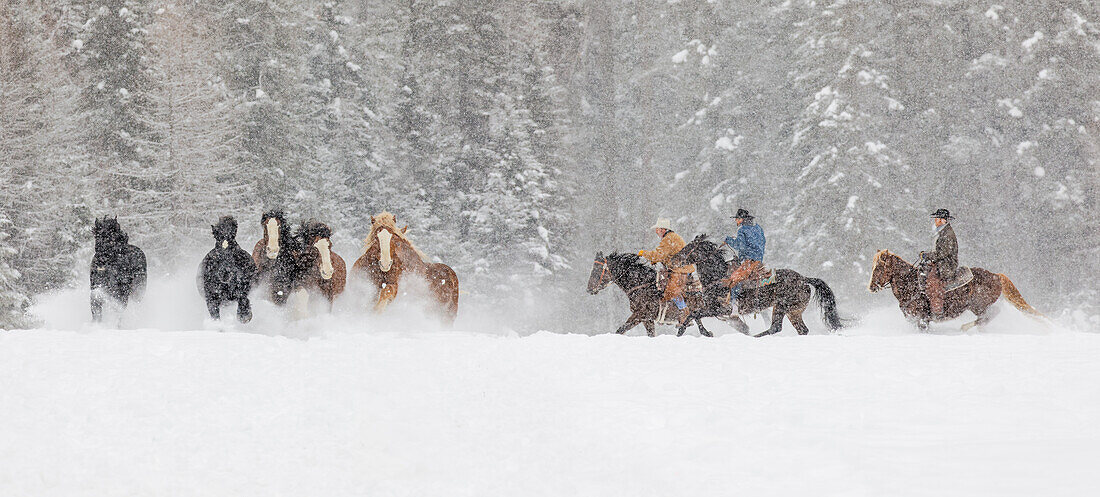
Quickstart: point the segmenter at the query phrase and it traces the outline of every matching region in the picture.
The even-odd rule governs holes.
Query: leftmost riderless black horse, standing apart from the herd
[[[123,308],[131,298],[140,300],[148,278],[145,253],[130,244],[118,218],[97,219],[92,229],[96,255],[91,257],[91,319],[103,320],[106,297]]]

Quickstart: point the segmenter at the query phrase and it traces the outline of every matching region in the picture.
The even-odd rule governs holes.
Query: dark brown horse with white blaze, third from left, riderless
[[[305,288],[306,267],[301,264],[305,246],[290,232],[282,211],[267,211],[260,218],[264,238],[252,250],[256,281],[267,280],[271,299],[282,306],[295,290]]]

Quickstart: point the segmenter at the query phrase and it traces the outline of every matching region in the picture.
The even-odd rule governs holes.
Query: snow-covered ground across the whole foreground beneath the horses
[[[1100,485],[1100,334],[1009,308],[983,332],[958,321],[919,334],[883,307],[840,335],[813,322],[810,336],[749,339],[715,323],[716,339],[647,339],[640,327],[519,336],[465,311],[457,330],[409,309],[288,322],[263,302],[248,327],[164,331],[209,328],[186,296],[123,320],[158,329],[113,330],[66,311],[84,298],[38,308],[51,330],[0,332],[0,495],[1082,496]]]

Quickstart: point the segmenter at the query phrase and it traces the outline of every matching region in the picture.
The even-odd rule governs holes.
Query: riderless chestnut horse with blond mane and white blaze
[[[352,269],[365,272],[378,288],[374,310],[381,312],[397,298],[402,276],[409,272],[425,278],[449,322],[459,312],[459,277],[447,264],[429,263],[428,256],[405,236],[408,227],[397,229],[397,219],[389,212],[371,218],[366,248]]]

